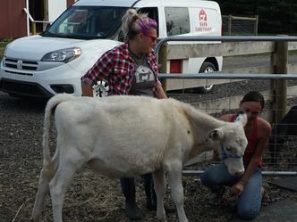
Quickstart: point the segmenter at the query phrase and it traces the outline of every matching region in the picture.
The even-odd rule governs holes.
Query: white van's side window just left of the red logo
[[[165,20],[168,37],[190,32],[188,8],[165,7]]]

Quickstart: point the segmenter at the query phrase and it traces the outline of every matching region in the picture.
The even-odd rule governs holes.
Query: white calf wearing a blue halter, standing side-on
[[[48,136],[54,111],[57,144],[51,158]],[[200,152],[224,147],[224,153],[231,154],[225,156],[229,172],[242,173],[242,158],[238,157],[247,145],[245,123],[245,115],[238,122],[224,122],[174,99],[55,95],[45,112],[44,161],[32,218],[39,220],[49,188],[54,221],[61,222],[67,186],[74,173],[88,164],[107,177],[153,172],[157,218],[164,221],[166,172],[179,221],[188,221],[183,209],[183,163]]]

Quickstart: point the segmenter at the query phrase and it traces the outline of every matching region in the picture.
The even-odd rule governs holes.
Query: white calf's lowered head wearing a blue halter
[[[244,166],[242,157],[248,140],[244,134],[243,127],[247,122],[245,114],[239,115],[235,122],[226,123],[211,131],[209,137],[220,142],[220,153],[228,171],[231,175],[242,175]]]

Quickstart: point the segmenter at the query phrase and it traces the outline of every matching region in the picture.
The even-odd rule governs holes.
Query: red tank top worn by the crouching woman
[[[231,121],[233,122],[235,119],[236,119],[236,115],[234,114],[232,116],[232,118],[231,118]],[[258,123],[258,119],[255,119],[253,130],[252,130],[250,136],[247,137],[248,145],[247,145],[247,148],[246,148],[246,150],[244,152],[244,155],[243,155],[243,163],[245,165],[250,163],[250,160],[251,160],[252,156],[254,155],[254,153],[255,153],[255,151],[257,149],[257,145],[259,143],[257,123]],[[263,159],[261,158],[258,167],[262,168],[262,166],[263,166]]]

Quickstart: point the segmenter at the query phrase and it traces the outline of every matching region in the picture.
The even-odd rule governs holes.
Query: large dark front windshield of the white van
[[[96,39],[115,37],[128,8],[103,6],[72,6],[44,33],[43,37]]]

